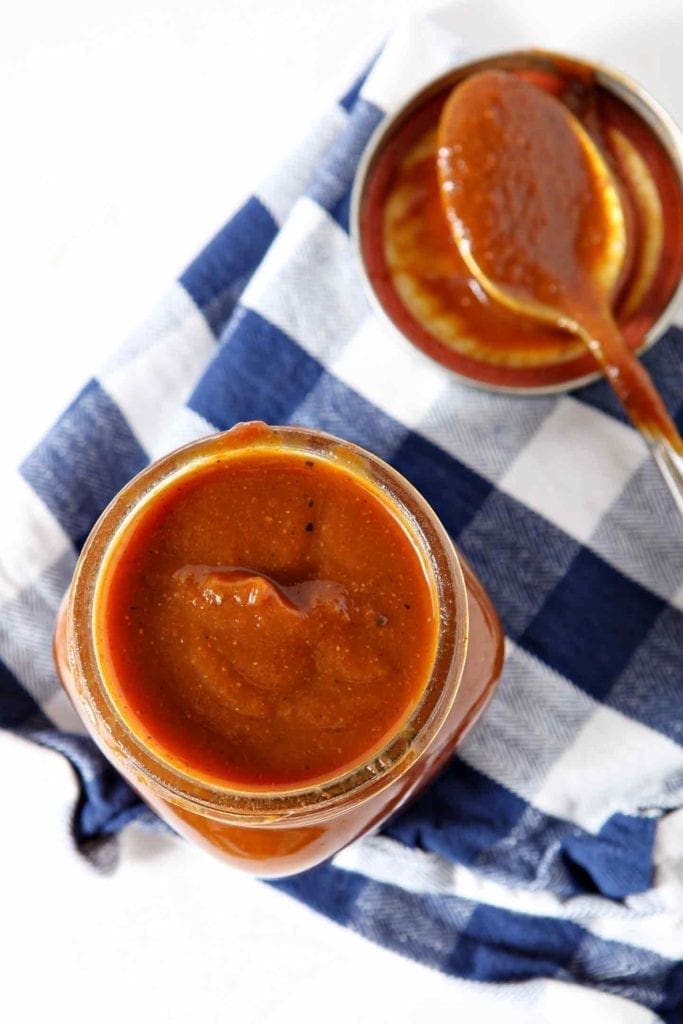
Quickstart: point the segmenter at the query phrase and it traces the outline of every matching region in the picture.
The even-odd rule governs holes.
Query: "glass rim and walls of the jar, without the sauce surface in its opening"
[[[239,444],[240,441],[238,440]],[[95,524],[76,566],[55,629],[62,685],[105,757],[176,831],[229,863],[261,877],[282,877],[321,863],[419,793],[452,755],[492,696],[503,662],[503,635],[481,584],[438,518],[390,466],[329,434],[275,427],[284,451],[334,460],[378,488],[402,522],[434,581],[438,640],[417,708],[366,764],[300,788],[229,788],[180,771],[135,732],[112,696],[97,656],[93,608],[100,573],[123,529],[172,480],[234,450],[231,432],[171,453],[135,477]]]

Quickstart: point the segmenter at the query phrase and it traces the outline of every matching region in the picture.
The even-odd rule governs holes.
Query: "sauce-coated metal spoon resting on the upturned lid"
[[[472,75],[443,106],[438,175],[472,276],[494,301],[585,342],[683,514],[683,440],[611,312],[627,257],[624,208],[581,123],[515,75]]]

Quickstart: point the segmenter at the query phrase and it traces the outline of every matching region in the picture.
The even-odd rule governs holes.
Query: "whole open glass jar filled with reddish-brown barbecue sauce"
[[[503,638],[398,473],[328,434],[251,423],[115,498],[55,657],[93,739],[162,818],[282,877],[427,784],[489,699]]]

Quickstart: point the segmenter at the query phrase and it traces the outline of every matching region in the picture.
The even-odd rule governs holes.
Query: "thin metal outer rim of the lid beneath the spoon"
[[[574,66],[583,72],[590,73],[597,86],[611,93],[622,100],[627,106],[639,116],[651,129],[652,133],[659,141],[668,154],[683,193],[683,135],[673,119],[667,112],[650,96],[650,94],[637,82],[634,82],[627,75],[606,65],[582,57],[572,57],[567,54],[553,53],[547,50],[515,50],[510,53],[500,53],[488,57],[482,57],[467,63],[458,65],[451,71],[429,82],[426,86],[416,92],[397,111],[388,115],[380,123],[378,128],[370,138],[368,145],[360,159],[358,169],[353,182],[350,207],[350,232],[353,242],[356,258],[360,267],[360,272],[366,291],[370,300],[379,313],[380,317],[391,330],[400,338],[403,338],[411,345],[415,346],[414,340],[404,333],[387,312],[381,299],[379,298],[373,283],[368,273],[368,268],[362,254],[361,247],[361,226],[360,214],[366,185],[375,162],[384,151],[390,139],[394,138],[397,132],[411,120],[421,108],[431,98],[449,88],[453,88],[459,82],[475,72],[489,69],[502,71],[518,71],[520,69],[548,71],[562,68],[562,66]],[[683,278],[679,280],[671,298],[659,312],[656,321],[646,332],[642,343],[637,351],[642,353],[650,348],[664,331],[672,324],[677,310],[683,302]],[[440,343],[443,344],[443,343]],[[419,346],[418,346],[419,347]],[[445,345],[444,345],[445,347]],[[440,360],[437,360],[440,362]],[[560,391],[568,391],[585,384],[590,384],[600,379],[600,373],[589,373],[580,377],[572,377],[566,381],[552,384],[539,384],[533,386],[515,386],[503,384],[489,384],[480,380],[467,377],[441,362],[444,369],[449,370],[456,378],[463,383],[487,391],[498,391],[508,394],[537,395],[550,394]]]

